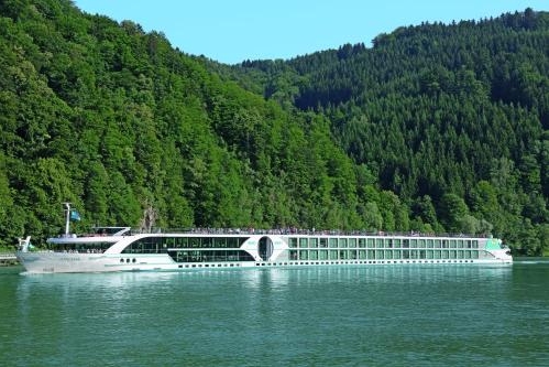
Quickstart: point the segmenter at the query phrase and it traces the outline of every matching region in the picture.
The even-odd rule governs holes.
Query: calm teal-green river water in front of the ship
[[[548,366],[549,262],[0,268],[1,366]]]

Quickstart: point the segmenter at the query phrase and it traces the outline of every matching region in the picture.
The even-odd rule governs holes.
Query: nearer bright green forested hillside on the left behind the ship
[[[2,1],[0,15],[2,244],[59,233],[67,201],[80,229],[369,226],[367,177],[325,117],[68,0]]]

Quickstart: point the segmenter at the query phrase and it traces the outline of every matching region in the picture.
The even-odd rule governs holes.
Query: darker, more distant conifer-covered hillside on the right
[[[492,231],[528,253],[549,246],[549,13],[400,28],[372,48],[229,73],[329,119],[353,163],[406,204],[411,228]]]

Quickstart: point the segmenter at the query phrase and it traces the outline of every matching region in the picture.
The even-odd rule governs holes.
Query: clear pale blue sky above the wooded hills
[[[87,13],[132,20],[163,32],[172,46],[237,64],[292,58],[345,43],[366,46],[380,33],[421,22],[480,20],[549,11],[547,0],[75,0]]]

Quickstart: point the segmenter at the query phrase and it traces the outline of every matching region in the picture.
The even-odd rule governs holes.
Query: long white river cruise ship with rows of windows
[[[36,250],[30,237],[20,239],[17,257],[28,272],[513,262],[508,247],[492,237],[297,229],[143,233],[130,227],[97,227],[75,235],[68,215],[65,234],[47,244],[47,250]]]

